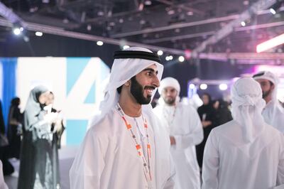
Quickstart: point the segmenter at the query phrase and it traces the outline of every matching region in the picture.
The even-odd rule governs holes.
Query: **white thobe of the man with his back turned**
[[[271,189],[284,183],[283,134],[265,125],[252,142],[245,143],[242,136],[234,120],[210,132],[202,189]]]

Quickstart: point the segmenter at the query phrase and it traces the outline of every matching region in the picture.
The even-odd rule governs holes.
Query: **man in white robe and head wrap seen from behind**
[[[233,120],[212,129],[205,145],[202,189],[283,188],[283,134],[261,116],[261,86],[241,78],[231,98]]]

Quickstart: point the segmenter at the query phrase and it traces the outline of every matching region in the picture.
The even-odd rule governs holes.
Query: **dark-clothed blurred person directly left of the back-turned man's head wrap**
[[[229,104],[228,102],[224,101],[224,99],[214,100],[213,107],[215,109],[214,115],[217,126],[225,124],[233,119],[231,117],[231,111],[229,110]]]

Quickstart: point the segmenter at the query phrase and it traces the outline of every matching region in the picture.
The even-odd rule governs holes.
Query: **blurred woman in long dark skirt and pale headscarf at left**
[[[37,86],[31,90],[23,112],[23,141],[18,178],[18,189],[56,188],[53,166],[53,131],[58,113],[47,112],[44,107],[50,92]]]

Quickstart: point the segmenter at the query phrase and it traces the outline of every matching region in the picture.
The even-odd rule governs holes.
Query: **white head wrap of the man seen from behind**
[[[266,102],[262,98],[261,86],[249,77],[237,80],[231,88],[232,116],[241,125],[246,143],[261,134],[265,123],[261,111]]]

